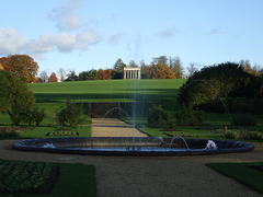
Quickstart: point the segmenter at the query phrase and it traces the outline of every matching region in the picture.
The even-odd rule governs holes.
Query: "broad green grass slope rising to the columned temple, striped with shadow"
[[[37,103],[65,102],[176,102],[184,79],[169,80],[96,80],[62,83],[28,84]]]

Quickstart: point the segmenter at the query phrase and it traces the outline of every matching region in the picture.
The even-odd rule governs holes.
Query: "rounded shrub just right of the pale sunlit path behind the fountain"
[[[170,123],[170,114],[161,105],[153,105],[149,108],[148,123],[150,127],[165,127]]]

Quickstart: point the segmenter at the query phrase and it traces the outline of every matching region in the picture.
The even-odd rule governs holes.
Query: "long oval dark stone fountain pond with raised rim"
[[[221,153],[239,153],[254,150],[254,146],[230,140],[213,140],[217,150],[205,150],[208,139],[185,139],[190,150],[185,148],[182,139],[174,139],[171,148],[172,138],[157,140],[153,137],[73,137],[73,138],[43,138],[26,139],[13,143],[14,149],[24,151],[41,151],[64,154],[87,154],[87,155],[204,155]],[[45,144],[53,143],[56,148],[44,148]],[[163,147],[165,150],[161,150]],[[155,146],[153,150],[144,150],[148,146]],[[88,149],[83,149],[83,147]],[[90,148],[92,147],[92,148]],[[98,149],[103,147],[103,149]],[[110,147],[110,149],[108,149]],[[119,150],[112,147],[123,147]],[[136,147],[136,148],[135,148]]]

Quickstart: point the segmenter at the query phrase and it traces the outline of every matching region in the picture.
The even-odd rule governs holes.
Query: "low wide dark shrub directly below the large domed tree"
[[[178,125],[203,125],[205,120],[205,113],[203,111],[194,109],[193,107],[184,107],[175,114]]]

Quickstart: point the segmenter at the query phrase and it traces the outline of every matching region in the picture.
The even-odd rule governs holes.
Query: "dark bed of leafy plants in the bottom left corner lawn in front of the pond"
[[[1,193],[49,194],[57,182],[58,167],[43,163],[0,163]]]

